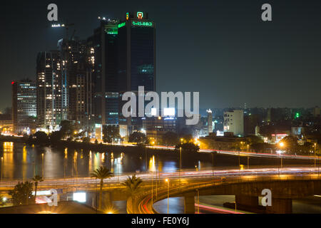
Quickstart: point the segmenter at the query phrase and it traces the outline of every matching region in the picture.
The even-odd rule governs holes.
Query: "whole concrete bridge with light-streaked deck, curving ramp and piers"
[[[195,212],[195,195],[235,195],[237,207],[254,212],[290,213],[292,199],[307,195],[321,195],[319,167],[252,167],[246,170],[182,170],[181,172],[144,172],[136,174],[143,180],[142,191],[128,199],[128,213],[158,213],[153,204],[168,197],[184,197],[185,213]],[[106,202],[126,200],[125,187],[120,185],[129,175],[119,175],[104,180]],[[168,182],[165,182],[168,180]],[[14,188],[18,181],[0,183],[0,192]],[[272,190],[272,207],[258,207],[258,197],[263,189]],[[88,192],[87,202],[97,204],[99,180],[91,177],[46,179],[39,182],[39,190]],[[108,199],[108,200],[106,200]],[[261,209],[261,210],[260,210]]]

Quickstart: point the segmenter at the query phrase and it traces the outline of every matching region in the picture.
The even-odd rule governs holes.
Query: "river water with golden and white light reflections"
[[[124,152],[95,152],[92,150],[59,150],[52,147],[26,146],[16,142],[0,142],[1,170],[4,180],[27,180],[34,175],[46,178],[89,177],[101,165],[115,175],[124,172],[170,172],[178,169],[173,157],[136,155]],[[147,161],[146,162],[146,157]],[[157,161],[156,161],[157,160]],[[196,161],[198,168],[210,167],[210,163]]]

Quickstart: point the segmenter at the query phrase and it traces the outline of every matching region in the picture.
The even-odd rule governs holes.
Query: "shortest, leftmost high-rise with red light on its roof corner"
[[[36,128],[36,82],[24,79],[11,85],[14,132],[30,133]]]

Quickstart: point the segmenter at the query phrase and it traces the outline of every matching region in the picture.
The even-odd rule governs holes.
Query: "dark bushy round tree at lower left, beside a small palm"
[[[9,190],[9,195],[12,197],[13,204],[16,205],[28,205],[30,202],[34,202],[34,196],[32,190],[34,184],[32,182],[18,182],[14,187],[14,190]]]

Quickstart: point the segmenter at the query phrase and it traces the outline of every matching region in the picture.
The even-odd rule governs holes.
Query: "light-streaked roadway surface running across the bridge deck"
[[[140,173],[126,173],[123,175],[112,177],[111,179],[104,180],[104,183],[108,184],[108,188],[119,188],[120,182],[125,181],[128,176],[136,174],[137,177],[141,177],[145,182],[161,182],[161,180],[175,180],[180,179],[181,182],[189,182],[202,178],[227,178],[227,177],[257,177],[263,175],[305,175],[311,173],[318,173],[321,171],[319,167],[265,167],[265,168],[250,168],[245,170],[240,169],[220,169],[220,170],[182,170],[181,172],[140,172]],[[21,181],[21,180],[20,180]],[[0,190],[10,190],[16,184],[18,180],[3,181],[0,182]],[[39,182],[39,190],[56,188],[96,188],[99,185],[99,180],[92,177],[73,177],[73,178],[61,178],[61,179],[46,179],[44,182]]]

